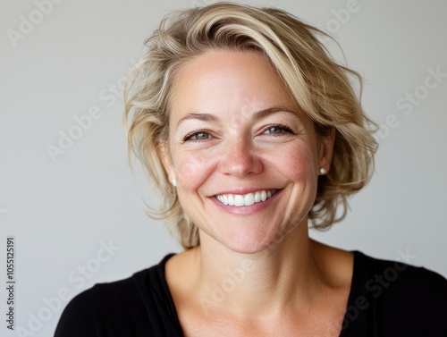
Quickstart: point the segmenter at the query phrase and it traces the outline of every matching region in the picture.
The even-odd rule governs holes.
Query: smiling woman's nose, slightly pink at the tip
[[[261,173],[264,165],[256,148],[247,140],[226,144],[220,163],[221,172],[238,178]]]

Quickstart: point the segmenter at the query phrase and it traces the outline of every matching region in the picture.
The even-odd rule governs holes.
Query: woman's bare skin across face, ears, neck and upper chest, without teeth
[[[307,216],[333,136],[317,138],[262,55],[223,50],[183,65],[169,128],[164,168],[200,235],[166,265],[185,335],[337,330],[352,257],[310,240]],[[251,206],[216,198],[260,190],[275,193]]]

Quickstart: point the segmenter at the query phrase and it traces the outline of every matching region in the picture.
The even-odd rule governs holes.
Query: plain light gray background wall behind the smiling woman
[[[50,336],[66,304],[55,300],[59,291],[75,295],[180,250],[164,226],[144,214],[142,199],[156,205],[156,196],[142,175],[128,167],[119,86],[132,60],[139,57],[143,39],[165,13],[209,2],[65,0],[53,4],[13,46],[7,29],[20,31],[21,15],[35,15],[34,21],[39,21],[38,13],[32,14],[38,6],[30,0],[1,1],[0,280],[6,277],[6,236],[13,235],[16,328]],[[447,78],[428,82],[430,87],[437,83],[436,88],[420,88],[430,69],[447,72],[447,4],[247,3],[277,6],[332,30],[348,65],[366,78],[367,113],[376,122],[388,118],[392,126],[399,124],[380,139],[374,179],[351,199],[346,220],[329,232],[312,235],[374,257],[407,255],[414,265],[447,276]],[[347,7],[354,8],[349,18]],[[113,86],[118,87],[116,93]],[[406,116],[409,107],[396,104],[415,90],[426,97],[412,104],[412,114]],[[88,114],[94,105],[101,117],[54,163],[47,145],[58,146],[59,131],[67,133],[76,125],[74,117]],[[101,250],[110,241],[119,250]],[[95,273],[81,276],[79,267]],[[5,298],[6,291],[1,291],[0,313],[6,309]],[[39,314],[46,322],[37,324],[30,318]],[[0,334],[17,332],[7,331],[2,319]]]

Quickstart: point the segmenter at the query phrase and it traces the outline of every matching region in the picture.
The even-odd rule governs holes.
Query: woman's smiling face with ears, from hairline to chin
[[[307,226],[332,142],[317,140],[264,57],[208,52],[176,80],[164,167],[200,240],[255,253]]]

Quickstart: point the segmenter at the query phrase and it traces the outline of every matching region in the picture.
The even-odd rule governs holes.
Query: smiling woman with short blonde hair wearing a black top
[[[342,220],[376,147],[322,34],[228,3],[162,22],[125,118],[185,250],[83,292],[56,336],[447,335],[442,276],[308,237]]]

